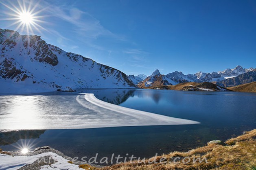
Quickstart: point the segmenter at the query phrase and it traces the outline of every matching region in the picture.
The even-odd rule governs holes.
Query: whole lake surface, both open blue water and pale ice
[[[124,127],[123,125],[127,125],[127,123],[135,125],[138,120],[144,123],[163,123],[164,121],[156,117],[146,117],[146,120],[141,120],[144,116],[137,117],[136,114],[140,112],[136,111],[135,117],[133,117],[133,114],[125,115],[121,113],[124,121],[118,122],[120,117],[114,116],[117,112],[113,113],[113,110],[111,112],[108,110],[108,114],[114,114],[114,117],[108,114],[101,115],[102,113],[97,113],[100,107],[98,105],[101,105],[99,104],[101,102],[94,98],[93,100],[96,100],[95,104],[92,99],[89,99],[91,106],[97,108],[95,111],[93,108],[88,108],[90,104],[87,103],[87,97],[90,97],[90,95],[86,97],[79,93],[94,94],[101,101],[115,104],[115,106],[141,110],[147,112],[148,115],[149,113],[155,113],[158,114],[158,118],[161,115],[166,116],[168,120],[164,121],[168,121],[168,123],[172,123],[172,117],[200,123],[187,125],[148,124],[147,126],[140,124],[140,126]],[[109,122],[123,126],[2,132],[0,133],[0,147],[7,151],[20,151],[22,147],[33,150],[36,147],[48,145],[70,157],[94,157],[96,153],[98,153],[98,157],[111,157],[112,153],[121,156],[126,156],[128,153],[129,156],[152,157],[155,153],[160,155],[171,151],[188,151],[195,147],[204,146],[210,140],[227,140],[243,134],[243,131],[256,128],[256,93],[81,89],[77,93],[53,92],[22,96],[0,96],[0,98],[1,129],[11,123],[7,121],[8,115],[9,117],[15,117],[13,122],[20,122],[16,126],[17,128],[21,125],[26,128],[26,124],[31,123],[29,121],[31,118],[35,120],[33,122],[35,127],[46,127],[50,124],[49,122],[52,123],[52,127],[59,124],[71,126],[74,125],[74,122],[78,123],[77,126],[80,126],[85,125],[84,121],[88,117],[90,119],[95,118],[97,114],[101,115],[98,119],[103,120],[102,116],[104,116],[105,120],[109,118]],[[110,105],[107,104],[107,106]],[[104,107],[101,106],[100,108],[105,110]],[[59,112],[58,110],[64,111]],[[44,118],[40,115],[44,115]],[[119,112],[118,115],[120,115]],[[46,117],[48,118],[46,119]],[[149,120],[154,120],[154,122]],[[98,120],[94,119],[90,122],[92,121],[97,122]],[[15,126],[15,123],[13,125]]]

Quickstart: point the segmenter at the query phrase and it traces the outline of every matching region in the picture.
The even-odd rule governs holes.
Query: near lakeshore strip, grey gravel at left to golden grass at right
[[[230,138],[229,140],[226,140],[225,143],[224,142],[209,142],[208,145],[204,146],[204,147],[199,147],[196,149],[192,149],[188,152],[172,152],[170,154],[166,154],[166,155],[161,155],[161,156],[157,156],[157,157],[152,157],[149,159],[146,159],[146,164],[138,164],[138,161],[134,160],[131,162],[126,162],[126,163],[121,163],[121,164],[112,164],[110,166],[102,166],[102,165],[98,165],[98,164],[88,164],[82,161],[74,161],[74,159],[72,160],[72,158],[64,155],[63,153],[61,153],[60,151],[57,151],[56,149],[50,148],[50,147],[41,147],[41,148],[37,148],[35,149],[33,152],[29,152],[27,154],[22,154],[20,152],[7,152],[7,151],[2,151],[0,149],[0,154],[7,154],[7,155],[12,155],[14,157],[17,156],[21,156],[21,155],[26,155],[26,156],[32,156],[32,155],[39,155],[42,153],[56,153],[57,155],[63,157],[63,159],[66,159],[66,161],[69,164],[76,164],[78,166],[82,167],[86,167],[86,168],[90,168],[90,169],[103,169],[103,170],[114,170],[114,169],[122,169],[122,170],[128,170],[129,168],[132,169],[143,169],[143,168],[152,168],[152,167],[159,167],[161,169],[167,169],[167,167],[172,167],[172,168],[204,168],[204,169],[212,169],[212,168],[216,168],[216,167],[222,167],[222,168],[227,168],[227,169],[232,169],[234,167],[238,168],[253,168],[256,165],[256,161],[252,161],[253,160],[253,155],[249,155],[247,154],[246,157],[244,157],[244,155],[242,154],[242,152],[244,152],[245,150],[247,151],[249,149],[249,151],[247,151],[247,153],[254,153],[255,154],[255,149],[250,149],[249,147],[251,145],[255,145],[256,141],[255,141],[255,137],[256,137],[256,129],[251,130],[249,132],[243,132],[243,135],[241,136],[237,136],[236,138]],[[236,159],[231,159],[228,158],[227,153],[226,154],[222,154],[222,157],[217,157],[217,152],[215,152],[215,150],[218,150],[218,152],[221,151],[232,151],[232,149],[236,150],[236,159],[239,159],[240,163],[236,164]],[[242,154],[242,155],[241,155]],[[226,155],[226,156],[225,156]],[[1,156],[1,155],[0,155]],[[201,158],[203,160],[203,158],[205,157],[207,159],[207,162],[203,162],[203,163],[193,163],[193,164],[184,164],[184,162],[182,161],[177,161],[175,164],[172,163],[164,163],[161,164],[161,162],[159,162],[161,160],[161,158],[170,158],[170,157],[188,157],[188,158],[192,158],[192,157],[197,157],[197,158]],[[243,158],[244,157],[244,158]],[[149,160],[153,160],[155,159],[157,162],[152,162],[151,164],[147,163],[147,161]],[[226,159],[229,159],[228,161]],[[163,159],[164,160],[164,159]],[[249,160],[249,162],[247,161]],[[215,163],[214,163],[215,161]],[[177,164],[178,163],[178,164]],[[51,163],[52,164],[52,163]],[[32,166],[31,166],[32,165]],[[28,164],[26,166],[24,166],[24,169],[26,170],[30,170],[30,169],[34,169],[35,167],[33,166],[38,166],[36,162],[33,162],[32,164]],[[27,168],[26,168],[27,167]],[[30,167],[30,168],[29,168]],[[39,168],[39,167],[37,167]]]

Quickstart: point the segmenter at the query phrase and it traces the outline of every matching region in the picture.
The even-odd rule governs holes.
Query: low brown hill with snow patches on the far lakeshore
[[[179,83],[177,85],[159,85],[153,87],[146,87],[148,89],[168,89],[168,90],[181,90],[181,91],[230,91],[221,87],[219,85],[215,85],[209,82],[196,83],[196,82],[187,82],[187,83]]]

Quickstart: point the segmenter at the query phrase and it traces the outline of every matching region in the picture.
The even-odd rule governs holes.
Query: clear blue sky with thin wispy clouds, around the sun
[[[255,0],[45,0],[41,9],[34,34],[126,74],[256,67]],[[0,28],[15,30],[3,20],[13,11],[0,11]]]

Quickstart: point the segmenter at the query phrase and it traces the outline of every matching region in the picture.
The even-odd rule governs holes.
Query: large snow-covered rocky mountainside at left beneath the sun
[[[47,44],[40,36],[0,29],[0,93],[133,88],[121,71]]]

